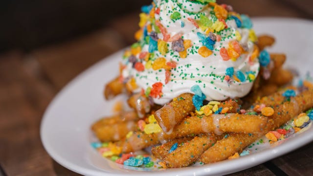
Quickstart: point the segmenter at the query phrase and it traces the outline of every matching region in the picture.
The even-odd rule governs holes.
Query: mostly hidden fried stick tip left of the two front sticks
[[[180,147],[180,145],[182,143],[186,143],[190,140],[192,140],[194,137],[181,137],[178,139],[173,139],[171,141],[168,141],[162,145],[158,145],[156,147],[153,147],[151,149],[151,153],[159,159],[163,159],[168,155],[168,152],[170,151],[171,147],[175,144],[178,143],[178,146]]]

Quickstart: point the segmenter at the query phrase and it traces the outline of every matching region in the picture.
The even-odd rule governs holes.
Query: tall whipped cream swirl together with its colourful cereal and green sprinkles
[[[138,42],[121,66],[132,91],[160,105],[195,85],[208,101],[250,91],[260,67],[251,22],[211,1],[154,0],[142,8]]]

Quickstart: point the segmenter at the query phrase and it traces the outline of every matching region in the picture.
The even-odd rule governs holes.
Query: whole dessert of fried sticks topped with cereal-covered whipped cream
[[[104,91],[107,99],[127,93],[131,110],[91,127],[103,156],[146,168],[208,164],[248,154],[264,135],[273,143],[310,126],[312,83],[291,86],[285,55],[264,50],[274,38],[256,37],[231,6],[154,0],[139,26]],[[151,146],[153,157],[137,153]]]

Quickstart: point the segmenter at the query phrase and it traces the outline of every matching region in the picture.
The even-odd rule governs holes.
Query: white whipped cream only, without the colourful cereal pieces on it
[[[217,24],[222,21],[217,19],[214,8],[207,3],[201,3],[191,0],[155,0],[155,5],[152,7],[159,9],[159,13],[154,14],[153,20],[148,20],[146,25],[155,25],[153,22],[159,21],[166,29],[166,33],[171,37],[175,35],[181,36],[183,40],[190,40],[191,46],[185,48],[186,57],[181,58],[178,51],[173,50],[171,39],[166,41],[168,51],[161,54],[159,50],[154,50],[150,53],[149,60],[139,58],[139,53],[135,55],[137,62],[145,66],[144,70],[138,71],[135,68],[134,62],[127,60],[125,68],[122,70],[124,78],[133,77],[138,88],[134,91],[140,91],[142,88],[147,90],[152,88],[156,82],[162,83],[162,93],[159,97],[154,97],[156,104],[165,104],[182,93],[190,92],[191,87],[198,85],[202,93],[206,96],[206,100],[225,100],[229,97],[243,97],[251,89],[253,79],[248,79],[251,74],[256,77],[259,71],[259,62],[255,58],[251,60],[255,49],[254,43],[249,39],[251,29],[238,27],[235,19],[227,18],[224,21],[224,29],[218,29]],[[179,18],[173,19],[173,13],[178,12]],[[214,35],[220,36],[214,44],[214,49],[207,57],[200,55],[199,48],[203,46],[199,34],[208,36],[207,28],[197,26],[195,22],[200,20],[200,16],[207,17],[212,22]],[[215,24],[217,23],[217,24]],[[227,26],[227,27],[225,27]],[[156,31],[152,28],[152,31]],[[147,32],[147,36],[151,35],[152,31]],[[164,31],[157,33],[158,39],[164,38]],[[141,44],[140,52],[149,51],[149,43],[143,42],[145,37],[139,40]],[[151,40],[151,39],[150,39]],[[244,48],[243,52],[236,59],[224,60],[220,54],[221,48],[229,48],[229,43],[238,41]],[[166,82],[166,69],[151,68],[151,65],[157,58],[165,58],[167,62],[175,62],[176,67],[171,68],[169,81]],[[234,76],[230,75],[228,80],[225,79],[226,69],[233,68]],[[243,73],[245,79],[238,78]]]

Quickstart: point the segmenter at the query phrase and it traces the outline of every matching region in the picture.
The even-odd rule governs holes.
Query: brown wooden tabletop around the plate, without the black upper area
[[[251,16],[313,17],[309,1],[305,5],[295,0],[281,4],[255,0],[244,9],[242,4],[248,1],[240,0],[234,8]],[[39,134],[42,115],[54,95],[78,73],[134,42],[137,22],[137,14],[130,14],[73,41],[30,53],[16,49],[0,55],[0,176],[78,175],[45,152]],[[313,175],[312,151],[310,143],[232,175]]]

